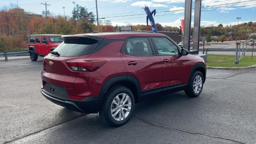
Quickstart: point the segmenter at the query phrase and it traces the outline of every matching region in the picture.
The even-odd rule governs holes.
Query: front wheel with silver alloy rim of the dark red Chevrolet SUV
[[[188,87],[185,90],[188,97],[194,98],[199,96],[204,86],[204,77],[200,71],[195,71],[188,82]]]

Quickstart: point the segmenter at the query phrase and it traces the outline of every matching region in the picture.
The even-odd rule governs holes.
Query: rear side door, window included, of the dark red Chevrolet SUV
[[[162,92],[162,64],[156,56],[149,37],[133,37],[125,40],[121,51],[127,74],[135,76],[141,91],[154,88]]]

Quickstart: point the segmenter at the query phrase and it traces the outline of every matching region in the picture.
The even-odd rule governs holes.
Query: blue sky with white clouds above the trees
[[[154,20],[163,26],[180,26],[180,19],[184,18],[185,0],[97,0],[98,14],[102,20],[111,20],[112,25],[146,24],[146,14],[142,7],[147,5],[150,10],[156,9]],[[0,8],[17,4],[17,0],[0,0]],[[45,10],[42,0],[18,0],[18,5],[26,11],[42,14]],[[56,15],[71,16],[75,2],[85,6],[90,12],[96,14],[95,0],[48,0],[48,10]],[[192,13],[193,14],[193,13]],[[202,0],[201,26],[234,25],[236,17],[240,22],[256,22],[256,0]],[[193,18],[192,18],[193,22]],[[239,23],[240,23],[239,22]]]

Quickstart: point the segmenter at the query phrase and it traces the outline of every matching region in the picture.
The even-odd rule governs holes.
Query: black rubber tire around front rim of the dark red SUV
[[[202,78],[202,86],[201,86],[200,91],[196,93],[194,91],[193,84],[194,84],[194,80],[195,80],[196,76],[198,76],[198,75],[201,76],[201,78]],[[190,98],[197,97],[202,92],[203,86],[204,86],[204,77],[203,77],[202,73],[200,71],[195,71],[194,74],[192,74],[191,78],[188,81],[188,87],[185,89],[185,93]]]

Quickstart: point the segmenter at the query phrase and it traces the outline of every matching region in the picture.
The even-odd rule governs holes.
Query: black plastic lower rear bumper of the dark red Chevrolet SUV
[[[62,99],[50,94],[44,89],[41,89],[41,93],[46,99],[55,104],[64,106],[76,112],[83,112],[87,114],[98,113],[103,99],[103,96],[90,96],[83,100]]]

